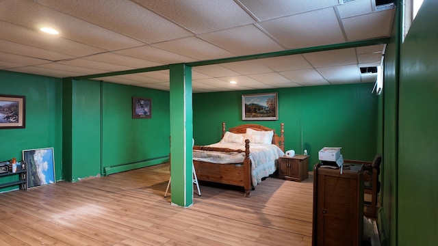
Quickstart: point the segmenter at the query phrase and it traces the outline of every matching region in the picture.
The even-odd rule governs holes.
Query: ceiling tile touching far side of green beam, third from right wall
[[[282,57],[258,59],[257,61],[265,64],[275,72],[312,68],[302,55],[287,55]]]

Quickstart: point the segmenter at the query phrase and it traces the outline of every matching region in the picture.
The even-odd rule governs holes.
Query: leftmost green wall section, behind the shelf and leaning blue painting
[[[0,160],[22,159],[22,150],[52,148],[55,178],[62,176],[62,81],[51,77],[0,71],[0,94],[26,96],[26,127],[0,129]],[[12,178],[2,178],[0,182]],[[4,188],[1,191],[18,189]]]

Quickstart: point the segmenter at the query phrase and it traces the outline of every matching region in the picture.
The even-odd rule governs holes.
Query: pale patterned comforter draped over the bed
[[[209,147],[230,148],[233,150],[245,150],[242,143],[214,143]],[[268,177],[276,170],[276,160],[285,153],[275,144],[250,143],[251,176],[253,186],[261,182],[261,178]],[[209,163],[229,164],[243,163],[245,152],[224,153],[216,151],[193,150],[195,161],[207,161]]]

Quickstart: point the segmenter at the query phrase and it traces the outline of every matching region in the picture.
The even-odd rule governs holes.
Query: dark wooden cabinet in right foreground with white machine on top
[[[363,165],[313,167],[312,245],[355,246],[363,235]]]

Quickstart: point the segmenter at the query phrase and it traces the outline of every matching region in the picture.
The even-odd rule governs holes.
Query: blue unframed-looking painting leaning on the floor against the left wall
[[[27,163],[27,188],[55,184],[55,159],[53,148],[23,150]]]

